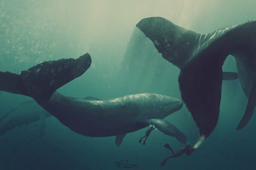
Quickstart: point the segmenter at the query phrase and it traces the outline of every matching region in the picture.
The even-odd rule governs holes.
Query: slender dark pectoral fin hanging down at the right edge
[[[244,128],[247,123],[250,121],[251,117],[253,116],[253,111],[256,104],[256,78],[254,78],[253,87],[247,102],[246,110],[244,112],[244,116],[239,122],[239,125],[236,127],[236,130],[241,130]]]

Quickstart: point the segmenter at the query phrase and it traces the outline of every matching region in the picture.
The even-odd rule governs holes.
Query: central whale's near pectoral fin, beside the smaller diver
[[[163,132],[166,135],[175,137],[181,143],[187,142],[187,137],[182,133],[177,127],[172,125],[170,122],[167,122],[163,119],[149,119],[148,123],[157,127],[158,130]]]

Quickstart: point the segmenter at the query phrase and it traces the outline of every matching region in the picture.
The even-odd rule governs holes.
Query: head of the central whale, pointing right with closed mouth
[[[163,119],[183,106],[180,99],[160,94],[140,94],[139,100],[140,115],[147,119]]]

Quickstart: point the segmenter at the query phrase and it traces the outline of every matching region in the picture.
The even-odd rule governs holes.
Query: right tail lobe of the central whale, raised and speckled
[[[42,62],[22,71],[20,77],[29,96],[36,100],[45,100],[55,90],[84,74],[90,64],[91,58],[87,53],[78,59]]]

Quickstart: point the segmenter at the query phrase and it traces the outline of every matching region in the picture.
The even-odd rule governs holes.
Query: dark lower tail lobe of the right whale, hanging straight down
[[[216,57],[201,57],[180,70],[183,102],[191,113],[200,136],[205,139],[218,122],[221,103],[222,65]]]

